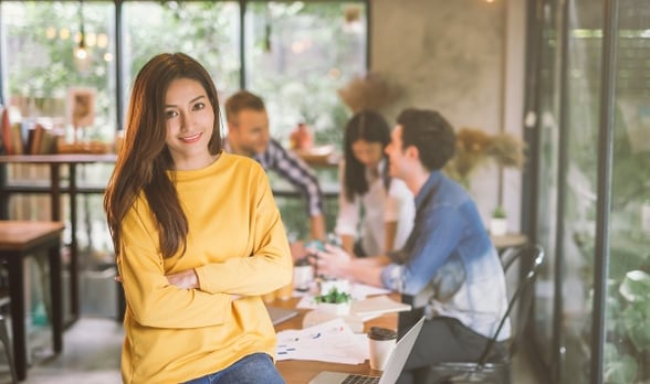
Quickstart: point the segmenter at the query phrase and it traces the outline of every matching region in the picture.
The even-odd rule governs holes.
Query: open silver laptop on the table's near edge
[[[394,384],[406,361],[413,349],[416,339],[420,334],[424,318],[422,317],[395,345],[395,350],[388,358],[386,370],[381,376],[368,376],[344,372],[323,371],[310,381],[310,384],[345,384],[345,383],[364,383],[364,384]]]

